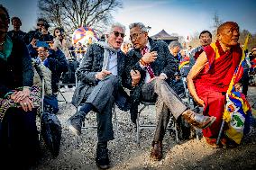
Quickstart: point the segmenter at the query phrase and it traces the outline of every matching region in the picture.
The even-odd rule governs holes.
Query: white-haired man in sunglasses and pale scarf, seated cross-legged
[[[106,41],[96,42],[87,49],[77,70],[78,86],[72,99],[76,107],[80,103],[85,104],[68,121],[69,129],[80,135],[87,113],[97,112],[96,165],[102,169],[109,167],[107,141],[114,139],[112,108],[120,100],[120,94],[125,93],[122,86],[123,80],[126,80],[123,77],[126,75],[125,56],[120,50],[124,31],[123,25],[114,23],[106,35]]]

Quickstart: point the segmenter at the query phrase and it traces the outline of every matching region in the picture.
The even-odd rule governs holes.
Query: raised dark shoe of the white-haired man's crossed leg
[[[82,123],[85,120],[85,116],[82,112],[76,112],[68,120],[69,130],[71,130],[75,135],[81,135]]]

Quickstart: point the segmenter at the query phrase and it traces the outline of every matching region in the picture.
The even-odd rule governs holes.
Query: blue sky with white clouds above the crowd
[[[11,17],[22,19],[23,31],[33,29],[38,14],[37,0],[0,0],[0,4],[4,4]],[[223,22],[237,22],[241,30],[256,33],[255,0],[123,0],[123,8],[117,9],[113,16],[114,22],[126,27],[127,35],[130,23],[142,22],[151,27],[150,35],[164,29],[169,34],[187,37],[213,30],[215,13]],[[10,29],[13,29],[11,25]]]

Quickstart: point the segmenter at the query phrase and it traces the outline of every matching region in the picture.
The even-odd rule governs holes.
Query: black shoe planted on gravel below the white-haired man
[[[101,169],[109,168],[109,158],[108,158],[108,149],[106,144],[98,144],[96,148],[96,166]]]

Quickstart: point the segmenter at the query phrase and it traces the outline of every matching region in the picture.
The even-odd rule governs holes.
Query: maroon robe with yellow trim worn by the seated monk
[[[204,48],[208,63],[194,79],[197,95],[205,103],[204,115],[215,116],[216,121],[203,130],[207,138],[217,138],[222,123],[225,93],[236,67],[242,58],[237,45],[224,52],[218,41]]]

